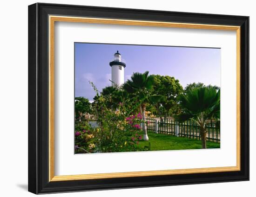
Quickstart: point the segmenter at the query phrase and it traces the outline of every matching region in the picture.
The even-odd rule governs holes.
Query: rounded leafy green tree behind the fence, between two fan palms
[[[166,116],[168,114],[176,114],[179,110],[177,96],[182,93],[183,88],[179,80],[171,76],[153,75],[155,84],[153,86],[153,94],[162,95],[162,99],[153,102],[157,114]]]

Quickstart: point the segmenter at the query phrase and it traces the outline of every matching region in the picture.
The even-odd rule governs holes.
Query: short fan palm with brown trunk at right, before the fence
[[[178,96],[182,113],[175,116],[179,122],[194,120],[200,126],[202,148],[206,148],[206,123],[212,119],[220,119],[220,89],[201,87],[189,90]]]

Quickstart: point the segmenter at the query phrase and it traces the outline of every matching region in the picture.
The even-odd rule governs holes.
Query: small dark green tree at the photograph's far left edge
[[[82,114],[91,113],[91,103],[84,97],[75,97],[74,108],[75,116],[79,117],[79,121],[81,121]]]

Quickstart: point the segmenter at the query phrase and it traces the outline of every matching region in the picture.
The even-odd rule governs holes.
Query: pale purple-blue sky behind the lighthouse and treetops
[[[221,84],[221,49],[125,44],[75,43],[75,97],[93,100],[94,89],[111,85],[109,61],[118,50],[126,61],[124,80],[133,72],[174,76],[183,88],[188,83]]]

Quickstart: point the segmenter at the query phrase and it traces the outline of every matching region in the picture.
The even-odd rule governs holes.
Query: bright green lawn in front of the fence
[[[148,146],[150,142],[150,151],[202,148],[201,140],[194,140],[186,137],[176,137],[161,133],[148,133],[148,138],[148,141],[140,141],[139,146]],[[207,141],[206,146],[207,148],[220,148],[220,143]]]

